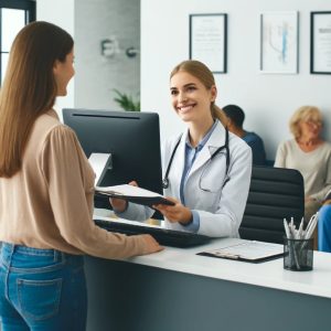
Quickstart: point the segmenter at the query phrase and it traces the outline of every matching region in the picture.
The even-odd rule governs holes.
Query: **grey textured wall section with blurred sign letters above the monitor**
[[[118,53],[105,57],[102,40],[116,38]],[[114,88],[140,97],[140,0],[77,0],[75,7],[75,107],[119,109]],[[120,109],[119,109],[120,110]]]

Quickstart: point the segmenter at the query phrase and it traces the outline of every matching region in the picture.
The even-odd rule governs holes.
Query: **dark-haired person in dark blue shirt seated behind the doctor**
[[[244,130],[243,124],[245,120],[244,110],[236,105],[227,105],[223,110],[228,118],[227,128],[231,132],[244,139],[252,148],[253,164],[266,166],[266,151],[261,138],[255,132]]]

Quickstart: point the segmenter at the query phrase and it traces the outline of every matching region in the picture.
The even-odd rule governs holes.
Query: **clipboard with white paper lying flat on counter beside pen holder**
[[[284,256],[284,246],[280,244],[243,241],[241,243],[218,249],[197,253],[197,255],[216,258],[227,258],[247,263],[263,263]]]

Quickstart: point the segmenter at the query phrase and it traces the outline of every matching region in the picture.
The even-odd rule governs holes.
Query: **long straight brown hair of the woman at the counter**
[[[14,39],[0,92],[0,177],[11,178],[21,169],[35,119],[55,102],[54,63],[64,62],[73,45],[67,32],[41,21]]]

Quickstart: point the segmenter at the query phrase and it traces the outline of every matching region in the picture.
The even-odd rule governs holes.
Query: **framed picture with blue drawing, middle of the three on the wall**
[[[297,74],[299,67],[299,13],[260,14],[260,73]]]

